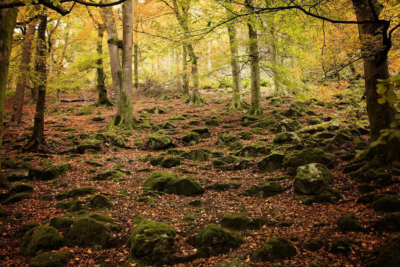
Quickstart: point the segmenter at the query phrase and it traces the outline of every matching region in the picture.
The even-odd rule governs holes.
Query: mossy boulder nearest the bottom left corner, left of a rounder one
[[[45,251],[62,247],[58,231],[49,226],[38,226],[30,229],[20,243],[20,253],[24,257],[34,257]]]

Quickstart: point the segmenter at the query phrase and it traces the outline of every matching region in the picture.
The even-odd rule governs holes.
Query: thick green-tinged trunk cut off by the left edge
[[[8,1],[0,0],[0,3]],[[4,101],[6,98],[6,87],[8,79],[8,66],[10,63],[12,34],[17,23],[17,8],[6,8],[0,10],[0,152],[3,136]],[[0,171],[0,182],[7,186],[8,181]]]

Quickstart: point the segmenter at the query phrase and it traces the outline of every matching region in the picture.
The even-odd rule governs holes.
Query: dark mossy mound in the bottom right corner
[[[377,249],[376,259],[370,263],[370,267],[399,267],[400,266],[400,235],[392,237],[386,245]]]

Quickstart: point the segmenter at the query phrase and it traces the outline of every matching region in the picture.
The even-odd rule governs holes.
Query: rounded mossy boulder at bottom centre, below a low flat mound
[[[194,247],[202,257],[226,254],[230,249],[240,247],[243,237],[239,233],[229,233],[216,224],[207,225],[200,233],[191,239]]]

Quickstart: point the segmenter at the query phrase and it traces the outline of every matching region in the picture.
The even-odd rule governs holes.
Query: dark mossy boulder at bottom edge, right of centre
[[[287,259],[296,255],[296,248],[285,237],[271,237],[264,247],[255,250],[250,255],[254,261],[271,261]]]

